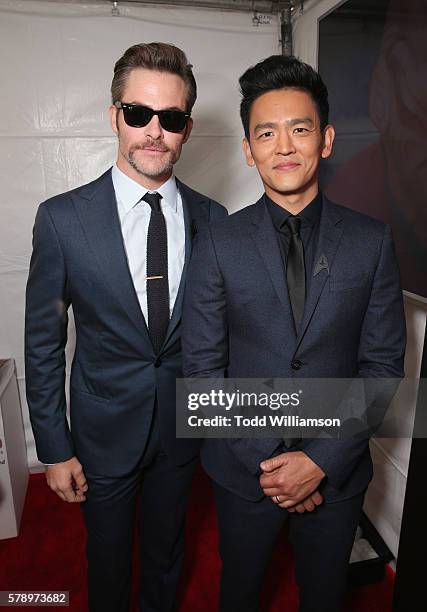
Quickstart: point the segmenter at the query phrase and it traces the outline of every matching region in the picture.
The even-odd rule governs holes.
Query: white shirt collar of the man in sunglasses
[[[111,178],[113,180],[116,196],[123,204],[126,213],[138,204],[141,198],[150,191],[122,172],[117,167],[117,164],[114,164],[112,168]],[[172,174],[172,176],[155,191],[162,196],[162,203],[164,202],[167,206],[171,206],[173,211],[176,212],[178,206],[178,187],[176,185],[175,176]]]

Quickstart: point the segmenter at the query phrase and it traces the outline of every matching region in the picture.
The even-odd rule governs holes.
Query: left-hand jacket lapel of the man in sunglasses
[[[73,196],[74,205],[88,243],[111,292],[135,328],[148,343],[147,325],[129,271],[123,244],[111,170],[99,181]]]

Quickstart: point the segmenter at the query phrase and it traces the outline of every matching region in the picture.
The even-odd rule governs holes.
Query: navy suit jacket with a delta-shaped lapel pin
[[[316,262],[328,267],[315,274]],[[406,332],[390,229],[323,197],[314,270],[295,332],[286,275],[264,198],[197,236],[183,312],[186,377],[394,378]],[[259,464],[280,439],[206,440],[204,466],[225,488],[259,499]],[[364,490],[368,441],[304,439],[326,473],[327,501]]]

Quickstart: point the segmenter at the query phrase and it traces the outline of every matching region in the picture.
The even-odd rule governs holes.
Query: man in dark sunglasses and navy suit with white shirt
[[[195,441],[175,435],[183,287],[197,228],[225,209],[176,179],[196,83],[164,43],[129,48],[111,86],[116,165],[38,209],[27,286],[26,381],[47,482],[82,502],[91,612],[129,610],[140,492],[144,612],[175,608]],[[76,348],[66,418],[67,311]],[[142,488],[141,488],[142,484]]]

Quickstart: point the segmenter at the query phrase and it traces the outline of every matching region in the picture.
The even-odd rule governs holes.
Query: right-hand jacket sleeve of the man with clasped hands
[[[399,268],[391,231],[385,226],[358,351],[358,376],[370,379],[365,382],[365,417],[368,425],[381,421],[399,379],[404,376],[405,346],[406,326]],[[392,379],[396,379],[396,383]],[[340,488],[366,452],[368,443],[367,436],[363,439],[351,436],[338,440],[317,439],[310,441],[304,452],[323,469],[329,482]]]

